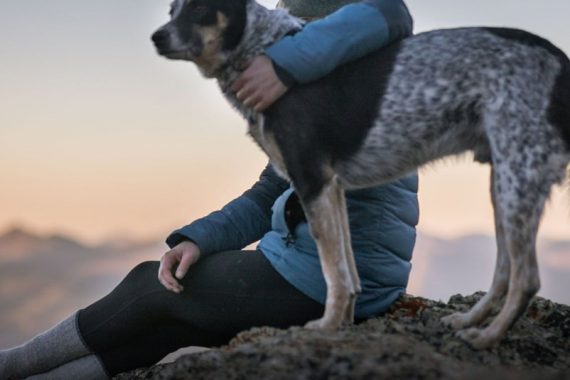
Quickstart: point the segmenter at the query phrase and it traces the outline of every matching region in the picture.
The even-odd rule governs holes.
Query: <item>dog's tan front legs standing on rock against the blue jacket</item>
[[[350,239],[346,243],[345,233],[349,232],[345,232],[344,229],[348,228],[348,221],[346,224],[342,222],[342,211],[339,211],[344,208],[346,214],[346,205],[343,202],[344,197],[339,197],[339,191],[342,189],[337,181],[332,179],[323,186],[317,197],[310,201],[301,198],[311,233],[317,243],[327,284],[325,314],[321,319],[307,323],[305,327],[311,329],[336,329],[353,315],[353,300],[357,289],[345,253],[346,247],[350,245]]]

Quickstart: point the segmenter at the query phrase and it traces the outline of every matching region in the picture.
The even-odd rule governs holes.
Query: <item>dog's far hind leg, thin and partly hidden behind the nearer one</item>
[[[505,243],[505,231],[500,207],[497,204],[495,170],[491,171],[491,199],[495,214],[495,237],[497,240],[497,262],[491,289],[466,313],[454,313],[442,318],[442,323],[454,330],[461,330],[480,324],[491,313],[494,306],[504,297],[509,286],[510,262]]]

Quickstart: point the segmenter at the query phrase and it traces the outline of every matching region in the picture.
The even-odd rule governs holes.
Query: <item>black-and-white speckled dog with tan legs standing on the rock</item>
[[[570,61],[550,42],[504,28],[435,30],[392,43],[292,88],[263,113],[231,91],[246,64],[302,21],[254,0],[175,0],[158,53],[216,78],[248,132],[295,186],[327,283],[322,318],[352,322],[360,284],[345,189],[379,185],[442,157],[489,163],[497,262],[489,292],[442,321],[477,349],[505,336],[540,287],[535,240],[570,162]],[[501,305],[499,314],[478,326]]]

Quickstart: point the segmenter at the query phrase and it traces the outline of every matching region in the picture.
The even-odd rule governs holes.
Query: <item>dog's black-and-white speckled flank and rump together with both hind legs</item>
[[[544,48],[486,29],[406,40],[374,127],[360,152],[338,165],[345,186],[352,187],[465,151],[492,164],[498,246],[493,284],[470,312],[444,319],[458,330],[479,324],[507,294],[491,325],[459,332],[477,348],[496,344],[540,286],[538,225],[550,188],[563,180],[570,161],[560,130],[548,120],[561,65]]]

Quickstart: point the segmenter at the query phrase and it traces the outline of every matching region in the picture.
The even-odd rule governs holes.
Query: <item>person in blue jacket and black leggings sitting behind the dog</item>
[[[235,84],[259,110],[412,33],[400,0],[282,0],[325,18],[270,46]],[[362,293],[356,318],[405,292],[418,221],[417,175],[347,191]],[[259,240],[257,249],[243,251]],[[159,262],[136,266],[107,296],[22,346],[0,352],[0,378],[102,379],[150,366],[186,346],[219,346],[254,326],[303,325],[324,311],[317,248],[290,184],[271,166],[221,210],[170,234]],[[158,274],[158,278],[157,278]]]

